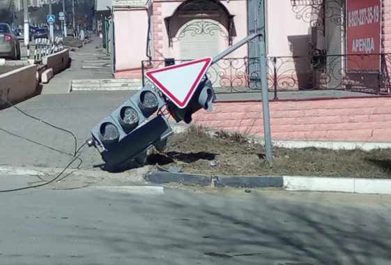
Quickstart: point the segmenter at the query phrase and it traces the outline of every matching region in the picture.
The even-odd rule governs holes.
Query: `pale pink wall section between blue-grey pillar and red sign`
[[[277,57],[279,87],[289,84],[289,89],[310,89],[315,84],[308,74],[312,67],[309,54],[316,48],[309,43],[311,23],[307,16],[312,9],[294,8],[292,3],[291,0],[266,1],[266,48],[270,57]],[[324,48],[325,38],[319,32],[317,37],[318,46]],[[270,74],[274,70],[271,60],[268,70]]]

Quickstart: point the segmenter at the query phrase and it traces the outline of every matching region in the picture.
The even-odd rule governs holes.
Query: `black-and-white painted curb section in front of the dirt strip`
[[[153,184],[181,183],[232,188],[283,188],[287,191],[390,194],[391,179],[329,178],[319,176],[206,176],[170,172],[147,172]]]

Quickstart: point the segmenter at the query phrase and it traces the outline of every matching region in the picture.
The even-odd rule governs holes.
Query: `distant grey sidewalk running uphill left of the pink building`
[[[69,93],[72,79],[111,79],[110,56],[95,49],[101,40],[93,36],[92,42],[75,52],[70,52],[70,68],[56,75],[49,84],[43,84],[43,94]]]

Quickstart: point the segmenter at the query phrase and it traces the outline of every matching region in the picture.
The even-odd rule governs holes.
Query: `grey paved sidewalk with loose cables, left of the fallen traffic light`
[[[91,137],[91,128],[134,93],[80,91],[40,95],[17,107],[26,114],[70,130],[77,137],[77,146],[81,146]],[[0,111],[0,139],[1,165],[63,168],[72,160],[75,151],[75,140],[71,135],[31,119],[13,107]],[[93,169],[93,165],[103,163],[98,150],[85,148],[87,150],[80,157],[82,169]],[[76,168],[77,164],[75,162],[70,168]]]

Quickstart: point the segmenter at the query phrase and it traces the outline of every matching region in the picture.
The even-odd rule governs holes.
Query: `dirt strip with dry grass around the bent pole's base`
[[[148,156],[165,169],[183,166],[183,172],[236,176],[346,176],[391,178],[391,149],[333,151],[329,149],[273,148],[273,166],[265,158],[265,147],[243,135],[190,127],[172,135],[167,150]],[[210,166],[210,160],[216,165]]]

